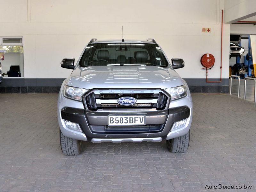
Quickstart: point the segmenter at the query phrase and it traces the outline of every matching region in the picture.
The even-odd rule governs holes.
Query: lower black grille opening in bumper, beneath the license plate
[[[108,126],[108,125],[90,125],[92,132],[110,134],[110,133],[152,133],[160,132],[164,124],[150,124],[141,126]]]

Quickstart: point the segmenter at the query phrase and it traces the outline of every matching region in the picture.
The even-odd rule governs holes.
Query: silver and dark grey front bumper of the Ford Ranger
[[[61,102],[60,102],[61,101]],[[74,108],[75,107],[75,108]],[[76,140],[92,141],[96,143],[100,142],[142,142],[153,141],[159,142],[162,139],[170,140],[176,137],[180,137],[188,133],[192,122],[192,100],[190,94],[187,97],[177,101],[172,101],[168,110],[152,111],[146,113],[146,124],[153,123],[153,121],[161,123],[164,118],[164,127],[159,132],[147,132],[147,133],[97,133],[92,130],[91,124],[95,124],[98,121],[99,125],[107,124],[107,116],[109,114],[122,115],[124,112],[97,112],[86,111],[81,102],[69,100],[67,98],[61,98],[58,102],[58,121],[61,132],[70,138]],[[125,112],[126,114],[128,112]],[[129,114],[141,114],[141,112],[129,112]],[[89,118],[88,118],[89,117]],[[154,120],[152,120],[154,119]],[[186,124],[182,127],[175,129],[173,124],[177,121],[187,119]],[[69,129],[64,120],[71,121],[79,124],[82,132]],[[89,123],[90,121],[90,123]],[[105,123],[104,123],[105,122]]]

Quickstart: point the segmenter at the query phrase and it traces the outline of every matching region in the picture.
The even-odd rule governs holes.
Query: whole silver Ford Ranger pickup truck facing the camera
[[[154,39],[92,39],[80,58],[61,61],[72,69],[58,96],[60,146],[65,155],[82,152],[83,141],[161,142],[172,153],[188,149],[192,98]]]

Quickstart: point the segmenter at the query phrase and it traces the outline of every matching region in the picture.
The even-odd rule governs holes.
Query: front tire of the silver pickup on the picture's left
[[[82,152],[82,141],[66,137],[60,130],[60,147],[64,155],[79,155]]]

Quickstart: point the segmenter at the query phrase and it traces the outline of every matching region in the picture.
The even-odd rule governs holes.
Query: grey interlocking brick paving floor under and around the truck
[[[81,155],[64,156],[57,94],[0,94],[0,191],[204,191],[218,184],[255,191],[256,104],[228,94],[192,97],[187,153],[168,152],[165,141],[85,142]]]

